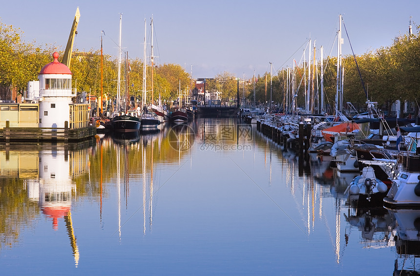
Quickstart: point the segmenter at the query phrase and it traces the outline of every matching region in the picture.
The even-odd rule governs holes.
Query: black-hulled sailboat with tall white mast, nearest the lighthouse
[[[136,110],[127,110],[121,105],[121,22],[123,15],[120,14],[120,36],[118,44],[118,79],[117,79],[117,113],[112,118],[112,129],[114,131],[138,131],[140,129],[141,121],[139,112]],[[128,95],[128,91],[126,91]],[[126,99],[124,100],[127,105]]]

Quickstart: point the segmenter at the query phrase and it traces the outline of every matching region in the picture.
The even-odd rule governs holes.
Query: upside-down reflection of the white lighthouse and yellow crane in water
[[[76,194],[73,177],[88,170],[87,149],[69,151],[67,146],[50,145],[39,149],[38,153],[31,152],[25,159],[32,162],[16,164],[18,170],[38,174],[36,178],[24,180],[29,200],[38,203],[54,231],[59,229],[59,221],[63,219],[77,267],[80,253],[71,218],[71,202]]]

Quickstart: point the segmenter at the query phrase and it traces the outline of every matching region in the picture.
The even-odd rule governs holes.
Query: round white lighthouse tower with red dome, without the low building
[[[39,127],[69,126],[71,98],[76,96],[71,88],[71,71],[58,61],[59,54],[53,53],[54,61],[42,67],[40,81],[40,123]]]

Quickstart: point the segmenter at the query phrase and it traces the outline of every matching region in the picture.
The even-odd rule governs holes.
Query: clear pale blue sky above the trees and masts
[[[20,28],[23,40],[53,44],[64,50],[76,9],[80,10],[74,49],[118,56],[120,13],[122,48],[131,59],[143,59],[144,22],[150,37],[154,24],[155,64],[180,64],[195,78],[212,78],[225,71],[252,78],[293,66],[302,60],[309,39],[316,58],[336,56],[336,32],[341,14],[356,55],[389,46],[394,38],[420,24],[419,0],[126,0],[126,1],[3,1],[0,20]],[[342,27],[342,53],[351,54]],[[148,42],[149,43],[149,42]],[[148,48],[150,44],[147,45]],[[306,50],[308,59],[308,50]],[[272,68],[270,68],[272,63]]]

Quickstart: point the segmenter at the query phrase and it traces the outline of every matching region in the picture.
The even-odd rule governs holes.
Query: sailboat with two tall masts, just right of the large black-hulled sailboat
[[[153,41],[153,19],[151,20],[152,26],[152,41]],[[151,67],[153,70],[153,47],[151,50]],[[153,71],[152,71],[152,80],[153,80]],[[153,81],[152,81],[152,95],[153,95]],[[145,46],[144,46],[144,56],[143,56],[143,114],[141,117],[141,128],[157,128],[160,125],[160,121],[158,120],[156,114],[154,112],[150,112],[147,108],[147,94],[146,94],[146,19],[145,19]]]

